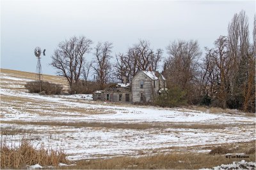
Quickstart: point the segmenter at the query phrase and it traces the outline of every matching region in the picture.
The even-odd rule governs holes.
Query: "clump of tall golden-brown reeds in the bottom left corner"
[[[6,141],[1,141],[1,169],[24,168],[35,164],[58,166],[60,162],[67,163],[65,153],[45,148],[43,143],[37,149],[25,138],[19,146],[8,146]]]

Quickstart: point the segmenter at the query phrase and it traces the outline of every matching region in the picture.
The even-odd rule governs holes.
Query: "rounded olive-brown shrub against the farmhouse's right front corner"
[[[155,99],[154,104],[163,107],[182,106],[186,104],[185,96],[186,92],[184,92],[182,89],[179,87],[172,87],[158,96]]]

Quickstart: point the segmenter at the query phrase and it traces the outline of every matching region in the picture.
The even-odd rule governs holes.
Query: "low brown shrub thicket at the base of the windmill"
[[[50,83],[48,81],[29,81],[26,83],[25,88],[28,89],[29,93],[40,93],[40,94],[61,94],[62,85],[56,83]]]

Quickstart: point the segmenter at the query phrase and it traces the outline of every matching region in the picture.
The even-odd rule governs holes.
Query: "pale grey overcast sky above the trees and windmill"
[[[33,51],[40,46],[46,49],[43,73],[55,74],[49,66],[52,53],[75,35],[92,39],[92,47],[112,42],[113,56],[138,39],[164,52],[171,41],[194,39],[204,52],[204,46],[227,35],[228,23],[241,10],[249,17],[251,34],[255,1],[1,0],[1,68],[35,72]]]

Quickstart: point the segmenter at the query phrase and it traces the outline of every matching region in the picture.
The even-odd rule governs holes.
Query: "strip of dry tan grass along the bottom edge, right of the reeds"
[[[255,155],[244,159],[255,160]],[[207,153],[168,153],[147,157],[115,157],[106,160],[81,160],[76,166],[67,169],[200,169],[231,164],[242,159],[227,159],[225,155],[209,155]],[[63,169],[63,167],[61,167]]]

